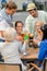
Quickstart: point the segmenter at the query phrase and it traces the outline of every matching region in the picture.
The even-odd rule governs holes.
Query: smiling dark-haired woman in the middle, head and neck
[[[21,34],[23,32],[23,23],[22,21],[16,21],[15,22],[15,31],[16,31],[16,39],[22,40]]]

